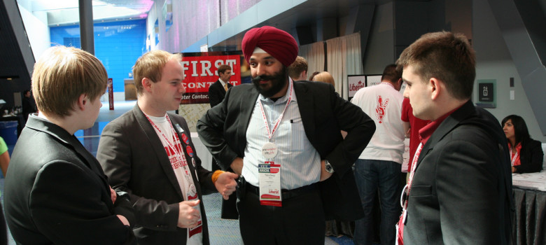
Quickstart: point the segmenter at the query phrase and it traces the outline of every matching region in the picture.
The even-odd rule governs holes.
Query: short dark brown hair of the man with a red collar
[[[398,69],[411,65],[423,80],[437,78],[456,99],[470,99],[476,77],[476,56],[463,34],[439,31],[424,34],[396,61]]]

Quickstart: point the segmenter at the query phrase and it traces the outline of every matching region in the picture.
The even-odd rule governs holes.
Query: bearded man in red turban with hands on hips
[[[286,31],[251,29],[242,48],[253,84],[228,90],[197,132],[218,165],[241,176],[245,244],[324,244],[326,218],[363,216],[351,166],[373,120],[328,83],[288,78],[297,43]]]

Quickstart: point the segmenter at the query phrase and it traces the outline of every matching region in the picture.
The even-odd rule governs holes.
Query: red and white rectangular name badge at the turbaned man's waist
[[[258,164],[260,204],[282,207],[281,165],[275,162]]]

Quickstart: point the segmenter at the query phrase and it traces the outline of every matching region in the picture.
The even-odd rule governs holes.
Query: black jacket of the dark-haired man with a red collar
[[[512,174],[491,113],[467,102],[423,146],[404,244],[511,244]]]

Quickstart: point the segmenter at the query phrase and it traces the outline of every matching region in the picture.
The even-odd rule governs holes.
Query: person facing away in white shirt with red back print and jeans
[[[381,83],[363,87],[351,102],[375,122],[375,134],[370,144],[355,163],[355,179],[365,212],[364,218],[355,222],[353,240],[355,244],[372,244],[374,234],[373,205],[379,190],[381,203],[381,244],[394,244],[394,228],[400,215],[396,195],[404,153],[404,125],[400,120],[402,101],[402,72],[395,64],[389,64],[383,71]]]

